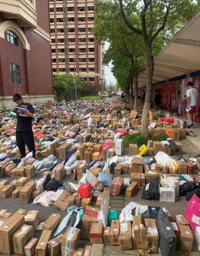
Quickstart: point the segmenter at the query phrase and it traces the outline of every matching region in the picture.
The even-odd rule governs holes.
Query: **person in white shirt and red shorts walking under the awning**
[[[190,128],[193,126],[193,120],[194,120],[194,114],[196,113],[196,106],[198,102],[198,91],[193,88],[193,83],[189,82],[187,83],[188,90],[187,90],[187,107],[186,109],[189,109],[187,112],[187,117],[189,119],[189,125],[187,128]]]

